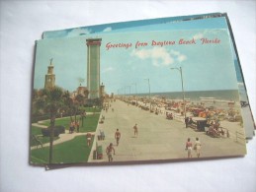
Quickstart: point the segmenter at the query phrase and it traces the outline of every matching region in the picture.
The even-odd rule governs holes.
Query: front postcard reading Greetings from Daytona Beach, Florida
[[[231,46],[226,30],[38,40],[31,164],[244,156]]]

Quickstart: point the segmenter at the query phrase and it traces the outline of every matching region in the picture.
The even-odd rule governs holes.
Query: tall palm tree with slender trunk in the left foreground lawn
[[[42,108],[50,117],[50,137],[49,137],[49,163],[52,162],[52,148],[54,137],[54,125],[57,112],[64,106],[63,91],[61,88],[43,89],[41,97],[37,100],[36,105]]]

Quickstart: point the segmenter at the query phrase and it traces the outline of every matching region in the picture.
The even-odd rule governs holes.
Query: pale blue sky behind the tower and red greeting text
[[[102,38],[101,83],[108,94],[181,92],[182,68],[186,91],[237,90],[237,80],[226,30],[164,32],[122,32],[86,34],[69,38],[43,39],[37,42],[35,89],[42,89],[49,59],[53,58],[56,85],[70,92],[82,83],[87,86],[87,38]],[[201,38],[219,39],[202,44]],[[179,40],[196,44],[179,44]],[[152,45],[175,41],[172,45]],[[147,43],[135,47],[136,42]],[[107,48],[107,44],[131,44]],[[81,81],[84,80],[84,81]]]

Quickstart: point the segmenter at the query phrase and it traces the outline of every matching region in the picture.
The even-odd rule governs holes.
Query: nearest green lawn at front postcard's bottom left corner
[[[93,143],[92,138],[92,143]],[[89,158],[90,147],[87,146],[86,136],[77,136],[73,140],[53,146],[52,163],[86,162]],[[49,148],[31,151],[31,162],[47,163]]]

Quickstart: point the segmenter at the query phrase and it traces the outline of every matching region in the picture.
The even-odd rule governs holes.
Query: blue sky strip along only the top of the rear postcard
[[[111,32],[111,31],[132,31],[133,29],[143,30],[144,28],[150,29],[166,29],[172,28],[184,30],[189,29],[202,29],[202,28],[226,28],[225,18],[209,18],[207,20],[189,20],[191,18],[203,18],[208,15],[219,15],[219,14],[203,14],[203,15],[193,15],[193,16],[178,16],[178,17],[168,17],[168,18],[156,18],[149,20],[138,20],[130,22],[103,24],[96,26],[80,27],[59,31],[43,32],[43,38],[55,38],[55,37],[70,37],[77,35],[84,35],[94,32]],[[186,22],[180,22],[184,21]],[[172,25],[168,25],[172,24]]]

